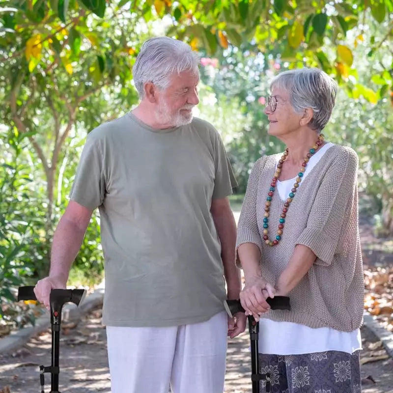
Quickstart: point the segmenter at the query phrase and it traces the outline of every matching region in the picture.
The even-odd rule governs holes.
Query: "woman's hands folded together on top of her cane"
[[[260,315],[270,310],[266,302],[268,297],[273,298],[275,288],[262,277],[251,277],[246,280],[246,285],[240,292],[240,303],[246,315],[253,315],[259,321]]]

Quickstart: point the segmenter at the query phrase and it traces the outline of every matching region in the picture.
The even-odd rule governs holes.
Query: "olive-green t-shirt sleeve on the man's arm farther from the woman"
[[[103,203],[106,191],[103,162],[100,140],[88,135],[72,185],[71,200],[91,210]]]

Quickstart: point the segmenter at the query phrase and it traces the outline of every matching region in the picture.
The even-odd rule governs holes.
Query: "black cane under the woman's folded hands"
[[[287,296],[275,296],[274,298],[267,298],[266,302],[272,310],[290,310],[289,298]],[[244,312],[240,300],[225,300],[225,310],[228,315],[233,318],[237,312]],[[259,351],[258,351],[258,335],[259,322],[256,322],[253,315],[249,315],[249,333],[251,342],[251,381],[253,386],[253,393],[260,393],[259,381],[266,381],[266,392],[270,392],[270,374],[259,373]]]

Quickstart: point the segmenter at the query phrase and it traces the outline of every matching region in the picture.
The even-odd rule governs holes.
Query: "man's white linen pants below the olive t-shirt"
[[[112,393],[223,393],[225,311],[167,328],[107,326]]]

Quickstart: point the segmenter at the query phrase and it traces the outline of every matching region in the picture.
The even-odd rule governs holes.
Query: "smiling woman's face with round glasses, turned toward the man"
[[[289,102],[288,91],[275,87],[271,97],[271,104],[264,111],[270,123],[268,134],[279,138],[299,130],[302,114],[297,114],[293,110]],[[276,102],[277,105],[275,105]],[[276,106],[275,110],[274,106]]]

